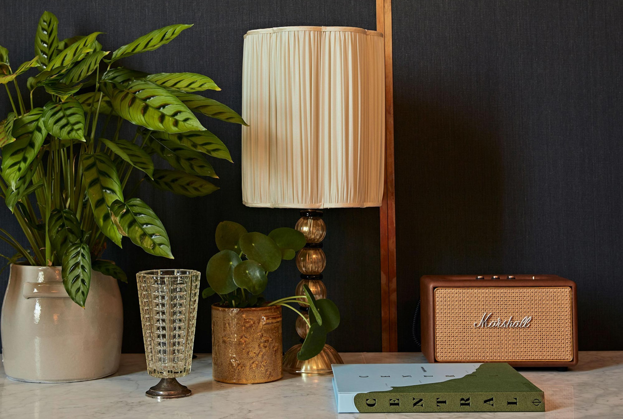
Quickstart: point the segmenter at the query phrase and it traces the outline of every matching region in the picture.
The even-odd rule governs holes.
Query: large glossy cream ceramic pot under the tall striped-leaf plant
[[[82,308],[67,296],[60,266],[11,265],[0,327],[11,379],[72,382],[113,374],[123,335],[117,280],[93,271]]]

